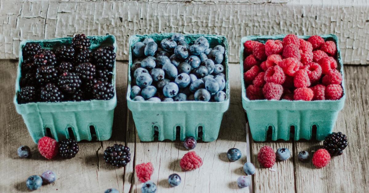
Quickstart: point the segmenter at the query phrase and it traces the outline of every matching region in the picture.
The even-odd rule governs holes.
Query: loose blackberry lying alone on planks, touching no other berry
[[[130,148],[122,144],[114,144],[104,151],[104,160],[115,167],[125,167],[131,161]]]

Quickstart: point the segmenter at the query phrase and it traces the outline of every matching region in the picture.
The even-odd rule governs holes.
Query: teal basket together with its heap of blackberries
[[[20,43],[14,104],[34,142],[110,138],[116,47],[112,35]]]

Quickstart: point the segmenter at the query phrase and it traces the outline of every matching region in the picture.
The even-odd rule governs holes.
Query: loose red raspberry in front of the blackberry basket
[[[38,140],[38,151],[46,159],[52,159],[59,152],[59,143],[51,137],[42,137]]]

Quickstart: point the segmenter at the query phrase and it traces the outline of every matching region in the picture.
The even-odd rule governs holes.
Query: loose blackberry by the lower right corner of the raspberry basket
[[[347,147],[346,135],[341,132],[333,132],[325,137],[323,149],[326,149],[331,156],[341,156],[342,151]]]

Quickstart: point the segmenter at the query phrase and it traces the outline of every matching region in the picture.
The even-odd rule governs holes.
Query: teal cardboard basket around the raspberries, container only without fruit
[[[244,42],[247,40],[255,40],[265,43],[268,39],[282,40],[284,36],[286,35],[242,37],[239,50],[242,80],[244,79]],[[299,38],[305,40],[309,37],[310,36],[299,36]],[[342,87],[344,92],[342,98],[339,100],[320,101],[249,100],[246,97],[245,83],[242,81],[242,106],[248,117],[252,139],[255,141],[265,141],[267,139],[267,133],[269,133],[270,130],[272,140],[289,140],[290,138],[294,140],[310,140],[313,138],[324,140],[325,136],[332,132],[338,112],[344,107],[346,99],[344,68],[337,36],[330,34],[321,35],[321,37],[323,37],[324,40],[332,40],[337,45],[337,59],[339,70],[342,74]],[[316,136],[314,137],[314,135]]]

